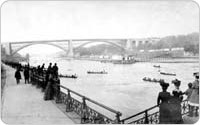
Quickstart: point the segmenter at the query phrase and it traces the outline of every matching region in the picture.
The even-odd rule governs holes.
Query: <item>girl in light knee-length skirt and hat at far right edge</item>
[[[191,116],[193,116],[193,112],[195,111],[194,116],[198,116],[199,109],[199,74],[194,74],[195,81],[192,83],[192,94],[188,101],[188,104],[191,106]]]

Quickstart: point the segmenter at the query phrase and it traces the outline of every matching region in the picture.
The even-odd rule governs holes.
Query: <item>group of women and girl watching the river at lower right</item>
[[[198,116],[199,109],[199,74],[194,74],[195,81],[188,84],[188,89],[185,92],[180,90],[181,81],[175,79],[172,83],[175,89],[172,94],[167,91],[169,83],[164,81],[160,82],[162,92],[159,92],[157,98],[157,105],[159,105],[159,122],[161,124],[181,124],[183,123],[181,102],[183,95],[187,95],[189,106],[188,116]]]

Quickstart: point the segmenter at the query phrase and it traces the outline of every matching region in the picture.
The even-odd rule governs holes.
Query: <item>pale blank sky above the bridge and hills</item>
[[[8,1],[1,42],[147,38],[199,32],[192,1]]]

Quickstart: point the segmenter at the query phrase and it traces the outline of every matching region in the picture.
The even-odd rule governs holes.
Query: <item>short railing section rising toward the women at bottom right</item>
[[[181,102],[182,116],[188,113],[188,101]],[[159,106],[155,105],[137,114],[124,118],[120,121],[122,124],[158,124]]]

